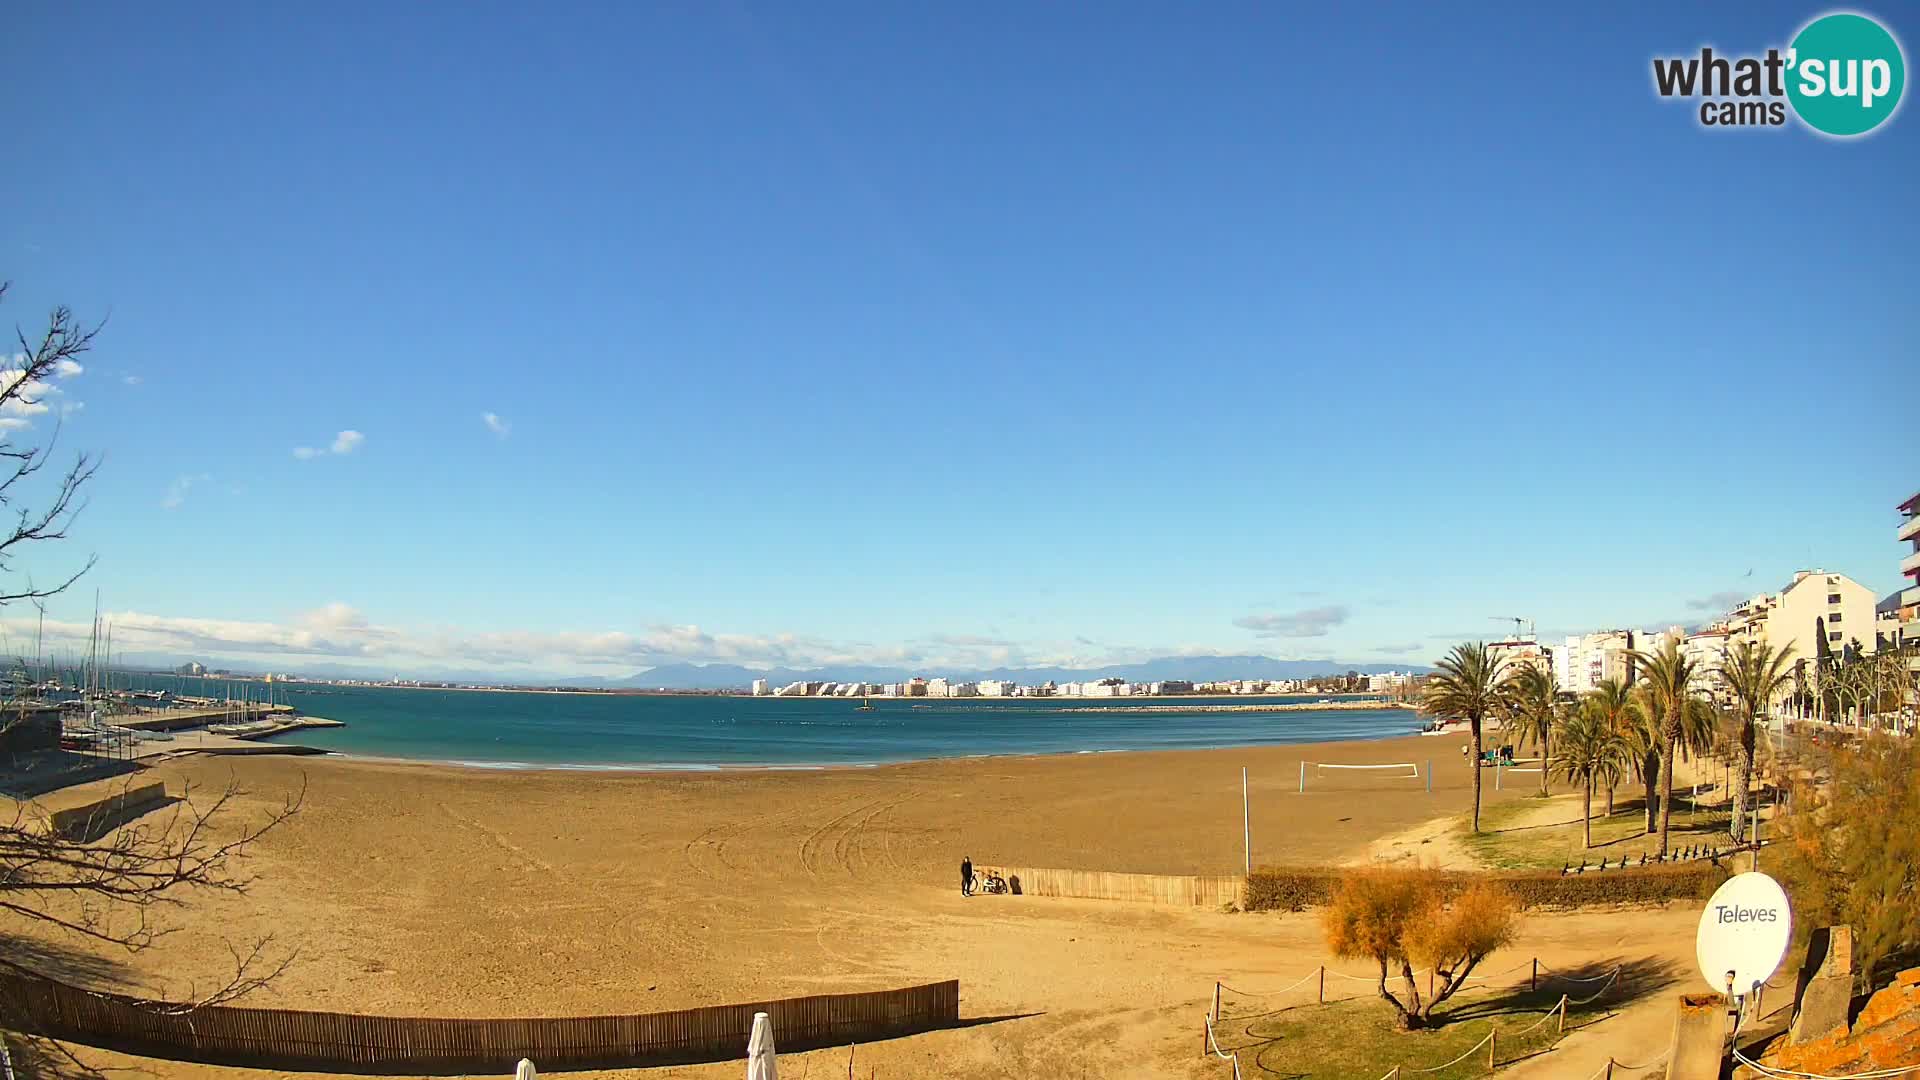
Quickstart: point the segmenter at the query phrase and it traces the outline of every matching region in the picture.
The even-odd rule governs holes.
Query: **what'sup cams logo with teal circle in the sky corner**
[[[1801,27],[1784,52],[1657,56],[1653,88],[1661,98],[1699,98],[1701,127],[1784,127],[1791,110],[1820,135],[1851,138],[1901,108],[1907,58],[1878,21],[1836,12]]]

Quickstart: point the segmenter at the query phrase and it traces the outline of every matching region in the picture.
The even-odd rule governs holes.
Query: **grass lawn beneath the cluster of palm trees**
[[[1676,792],[1678,796],[1678,792]],[[1594,799],[1594,847],[1582,847],[1580,803],[1557,799],[1569,824],[1521,826],[1530,815],[1540,813],[1542,799],[1526,798],[1505,803],[1492,803],[1480,809],[1480,834],[1471,832],[1471,817],[1461,821],[1461,846],[1478,857],[1486,867],[1498,871],[1557,871],[1563,865],[1596,865],[1601,859],[1619,863],[1622,857],[1638,861],[1640,855],[1659,851],[1659,834],[1647,834],[1647,811],[1642,801],[1617,799],[1613,817],[1605,815],[1605,803]],[[1728,847],[1726,836],[1728,809],[1701,805],[1690,809],[1686,798],[1674,799],[1674,815],[1668,844],[1672,847],[1709,846]]]

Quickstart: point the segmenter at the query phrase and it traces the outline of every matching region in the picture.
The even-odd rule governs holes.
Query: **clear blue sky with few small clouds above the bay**
[[[1920,119],[1649,77],[1820,12],[31,4],[4,315],[111,321],[12,573],[98,552],[50,619],[132,650],[555,673],[1885,594]]]

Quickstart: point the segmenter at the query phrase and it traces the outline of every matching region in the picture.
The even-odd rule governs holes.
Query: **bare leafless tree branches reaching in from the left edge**
[[[0,300],[6,298],[0,282]],[[98,457],[81,454],[58,482],[48,469],[58,427],[44,444],[19,438],[31,430],[29,417],[50,413],[40,407],[52,394],[52,380],[73,371],[75,357],[86,354],[100,325],[83,325],[67,307],[54,307],[40,334],[15,331],[19,356],[0,361],[0,607],[15,601],[40,605],[73,586],[92,569],[88,557],[79,569],[61,573],[54,584],[35,584],[19,575],[15,561],[29,550],[42,550],[67,538],[67,528],[84,507],[83,490],[98,469]],[[23,580],[21,580],[23,578]],[[25,705],[25,703],[21,703]],[[0,736],[25,717],[25,707],[0,709]],[[232,780],[213,798],[196,798],[190,788],[169,811],[134,822],[98,824],[106,828],[56,830],[29,803],[0,811],[0,919],[23,934],[69,936],[92,947],[140,951],[169,930],[154,913],[186,903],[196,894],[244,894],[253,882],[240,869],[246,847],[300,811],[305,788],[261,821],[244,821],[236,799],[246,792]],[[23,940],[12,934],[6,940]],[[228,944],[232,974],[217,986],[186,986],[169,1009],[200,1009],[232,1001],[276,978],[294,953],[275,949],[271,938],[248,945]],[[0,947],[0,969],[33,970],[25,949]],[[278,959],[275,959],[278,957]],[[25,957],[25,959],[31,959]],[[165,995],[165,994],[163,994]],[[0,1015],[0,1028],[6,1017]]]

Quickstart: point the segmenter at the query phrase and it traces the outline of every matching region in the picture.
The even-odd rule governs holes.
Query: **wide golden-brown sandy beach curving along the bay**
[[[1298,794],[1300,761],[1428,759],[1432,794],[1425,778],[1371,773],[1315,774]],[[1323,963],[1311,913],[964,899],[956,867],[972,855],[1238,872],[1242,767],[1256,865],[1365,859],[1382,838],[1461,815],[1471,786],[1457,738],[710,774],[190,757],[146,776],[204,792],[234,776],[252,792],[246,815],[305,784],[305,807],[253,849],[246,896],[161,911],[179,932],[150,951],[71,957],[71,969],[179,995],[227,970],[223,942],[273,934],[298,961],[250,1003],[447,1017],[659,1011],[960,978],[962,1017],[1006,1019],[860,1047],[860,1074],[874,1065],[920,1076],[941,1059],[993,1076],[1215,1076],[1194,1053],[1213,980],[1273,986]],[[1488,776],[1486,798],[1523,788],[1494,792]],[[1672,967],[1693,919],[1534,915],[1513,955]],[[806,1057],[837,1065],[803,1057],[795,1074],[845,1068],[843,1051]],[[737,1065],[651,1074],[730,1076]]]

